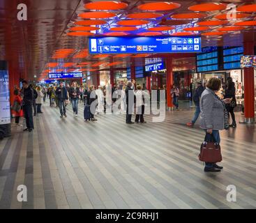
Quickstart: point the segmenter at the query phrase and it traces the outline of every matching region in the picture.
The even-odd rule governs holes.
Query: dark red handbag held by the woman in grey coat
[[[223,157],[220,151],[220,144],[216,142],[213,134],[206,133],[204,141],[200,148],[199,160],[202,162],[221,162]]]

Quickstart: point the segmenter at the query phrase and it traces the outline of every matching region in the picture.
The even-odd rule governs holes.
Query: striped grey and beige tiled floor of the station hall
[[[256,208],[254,126],[222,134],[220,173],[204,173],[197,155],[204,132],[187,128],[193,111],[164,122],[126,125],[123,115],[84,122],[43,106],[35,130],[13,127],[0,141],[0,208]],[[233,131],[233,132],[232,132]],[[240,132],[240,133],[239,133]],[[27,202],[17,201],[18,185]],[[227,201],[227,186],[236,201]]]

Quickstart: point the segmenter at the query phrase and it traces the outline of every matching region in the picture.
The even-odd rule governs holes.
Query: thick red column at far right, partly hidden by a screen
[[[254,42],[243,43],[243,54],[254,55]],[[243,68],[244,79],[244,117],[246,123],[255,121],[254,68]]]

